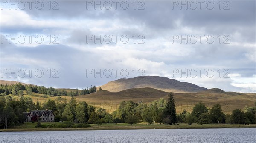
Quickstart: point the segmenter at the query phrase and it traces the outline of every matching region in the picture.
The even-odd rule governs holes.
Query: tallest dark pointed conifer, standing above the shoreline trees
[[[175,109],[175,98],[173,93],[170,93],[167,107],[166,107],[166,117],[168,118],[168,124],[174,124],[177,123],[177,117],[176,117],[176,109]]]

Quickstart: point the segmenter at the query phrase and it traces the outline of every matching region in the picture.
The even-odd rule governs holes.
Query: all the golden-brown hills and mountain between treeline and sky
[[[15,83],[15,81],[1,80],[1,84]],[[113,87],[111,87],[111,85],[113,85]],[[159,88],[154,89],[152,88],[153,86]],[[87,95],[79,95],[75,98],[78,102],[86,101],[88,104],[97,108],[105,108],[108,112],[115,111],[119,107],[119,103],[121,101],[149,103],[154,100],[159,100],[160,98],[168,99],[169,92],[174,93],[177,113],[182,112],[183,109],[192,112],[193,106],[199,101],[204,102],[207,107],[212,107],[213,104],[219,103],[221,104],[224,113],[231,113],[232,110],[236,108],[243,109],[245,105],[254,106],[254,102],[256,101],[256,93],[225,92],[218,88],[212,88],[208,90],[195,84],[179,82],[174,79],[157,76],[142,76],[130,79],[119,79],[117,81],[110,81],[108,84],[105,84],[101,87],[103,90],[99,90],[96,93]],[[122,90],[122,88],[124,88],[124,90]],[[120,91],[113,92],[105,89]],[[73,89],[63,90],[70,91]],[[24,94],[26,97],[29,96],[26,94],[26,92],[24,92]],[[33,93],[33,95],[30,97],[34,102],[38,100],[41,103],[47,101],[49,98],[53,100],[59,98],[57,96],[45,98],[43,94],[39,93]],[[61,98],[67,98],[67,101],[70,100],[69,96],[61,96]]]

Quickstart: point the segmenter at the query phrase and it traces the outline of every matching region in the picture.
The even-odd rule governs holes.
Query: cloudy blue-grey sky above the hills
[[[56,88],[163,76],[256,93],[256,1],[0,1],[1,79]]]

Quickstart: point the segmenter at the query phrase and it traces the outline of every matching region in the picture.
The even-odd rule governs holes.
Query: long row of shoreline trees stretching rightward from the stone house
[[[43,104],[42,108],[48,107],[48,109],[54,110],[58,114],[57,118],[55,118],[57,119],[56,121],[59,119],[60,121],[68,120],[75,123],[256,123],[256,105],[255,107],[244,107],[244,111],[235,109],[230,115],[222,112],[220,104],[215,104],[209,109],[204,103],[199,102],[195,104],[191,113],[184,109],[182,113],[176,114],[175,98],[172,93],[167,101],[160,99],[149,104],[122,101],[119,104],[119,108],[111,114],[106,109],[100,108],[96,110],[95,107],[87,105],[85,102],[78,104],[74,98],[69,103],[57,101],[60,106],[56,107],[56,109],[49,108],[51,107],[49,106],[50,102],[54,101],[48,100],[47,104]],[[54,104],[52,103],[51,105]]]

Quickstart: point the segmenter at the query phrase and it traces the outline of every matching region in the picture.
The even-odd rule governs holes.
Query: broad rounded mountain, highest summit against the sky
[[[198,91],[207,90],[207,88],[199,87],[195,84],[180,82],[175,79],[159,76],[139,76],[128,79],[118,79],[115,81],[110,81],[107,84],[99,87],[101,87],[102,90],[108,90],[110,92],[119,92],[131,88],[145,87],[175,93],[196,93]]]

